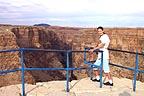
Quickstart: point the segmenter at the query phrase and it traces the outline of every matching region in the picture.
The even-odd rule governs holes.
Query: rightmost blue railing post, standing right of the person
[[[133,91],[136,90],[137,71],[138,71],[138,53],[136,53],[136,63],[135,63],[135,70],[134,70]]]

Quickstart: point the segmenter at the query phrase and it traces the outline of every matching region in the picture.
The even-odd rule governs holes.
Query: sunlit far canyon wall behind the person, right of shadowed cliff
[[[58,36],[62,35],[66,38],[66,43],[71,44],[72,50],[84,50],[85,47],[93,47],[98,43],[98,34],[96,28],[63,28],[49,27],[49,30],[57,32]],[[73,30],[73,31],[72,31]],[[105,28],[105,33],[110,37],[111,49],[125,50],[130,52],[144,53],[144,28]],[[61,37],[61,36],[60,36]],[[73,53],[73,66],[86,66],[83,63],[83,53]],[[87,54],[88,60],[96,60],[97,55]],[[110,62],[122,66],[134,68],[135,54],[116,52],[110,50]],[[133,71],[111,67],[113,76],[126,77],[133,79]],[[144,69],[144,56],[139,55],[139,69]],[[75,71],[77,78],[89,76],[89,72],[85,70]],[[144,74],[138,73],[138,80],[144,81]]]

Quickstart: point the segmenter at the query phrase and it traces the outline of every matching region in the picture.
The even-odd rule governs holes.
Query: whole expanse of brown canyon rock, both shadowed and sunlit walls
[[[105,28],[111,43],[109,48],[144,53],[144,28]],[[34,27],[34,26],[0,26],[0,50],[14,48],[43,48],[52,50],[84,50],[98,42],[96,28],[73,27]],[[64,68],[65,53],[24,52],[27,68]],[[87,66],[83,62],[83,53],[71,54],[70,67]],[[96,54],[88,54],[88,60],[95,60]],[[0,71],[21,67],[20,53],[0,53]],[[135,66],[135,54],[110,50],[110,62],[122,66]],[[112,76],[133,78],[133,71],[110,66]],[[139,69],[144,69],[144,56],[139,56]],[[71,79],[89,76],[88,70],[71,72]],[[0,86],[21,83],[21,72],[0,75]],[[139,73],[138,80],[144,81],[144,74]],[[25,82],[45,82],[64,80],[65,71],[25,71]]]

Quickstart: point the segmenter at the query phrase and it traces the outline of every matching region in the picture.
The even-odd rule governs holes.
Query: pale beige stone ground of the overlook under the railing
[[[143,96],[144,83],[137,81],[133,92],[133,81],[125,78],[113,78],[114,86],[99,87],[98,82],[89,78],[73,80],[69,83],[70,92],[65,92],[66,81],[51,81],[25,84],[26,96]],[[0,96],[21,96],[21,84],[0,88]]]

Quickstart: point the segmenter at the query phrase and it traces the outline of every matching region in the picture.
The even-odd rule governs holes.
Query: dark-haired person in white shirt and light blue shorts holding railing
[[[97,28],[98,34],[100,35],[99,41],[100,43],[96,45],[93,49],[89,50],[89,52],[93,52],[96,49],[103,51],[103,70],[104,73],[106,73],[108,77],[108,82],[104,83],[104,85],[113,86],[112,78],[110,75],[110,68],[109,68],[109,52],[108,52],[108,46],[110,43],[110,39],[107,34],[104,33],[103,27],[99,26]],[[100,65],[101,64],[101,52],[98,52],[98,58],[94,65]],[[94,72],[96,75],[96,78],[93,81],[100,82],[100,76],[99,71],[97,68],[94,68]]]

